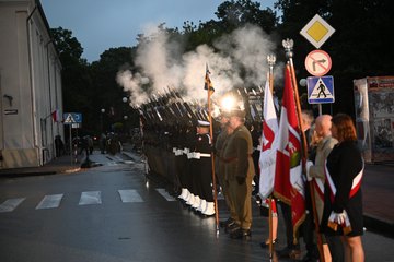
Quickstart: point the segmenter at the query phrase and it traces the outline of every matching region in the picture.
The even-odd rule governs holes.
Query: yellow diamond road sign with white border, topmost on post
[[[314,47],[320,48],[335,29],[316,14],[300,32]]]

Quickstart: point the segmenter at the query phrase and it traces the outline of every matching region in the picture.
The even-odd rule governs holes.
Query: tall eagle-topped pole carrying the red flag
[[[299,126],[300,126],[301,135],[302,135],[302,148],[303,148],[303,151],[302,151],[303,152],[303,154],[302,154],[302,170],[305,170],[305,164],[306,164],[306,159],[308,159],[308,144],[306,144],[306,136],[305,136],[305,133],[303,132],[303,127],[302,127],[302,121],[301,121],[302,116],[301,116],[300,96],[298,93],[296,70],[294,70],[294,64],[292,61],[292,57],[293,57],[292,49],[294,46],[294,41],[292,39],[285,39],[285,40],[282,40],[282,45],[285,47],[286,57],[289,59],[289,63],[287,64],[287,67],[290,68],[292,85],[294,88],[297,115],[298,115]],[[312,212],[313,212],[313,219],[314,219],[314,224],[315,224],[320,261],[324,262],[325,260],[324,260],[324,253],[323,253],[323,241],[322,241],[322,236],[318,233],[320,227],[318,227],[318,216],[317,216],[316,202],[315,202],[315,196],[314,196],[314,189],[313,189],[313,184],[311,182],[308,182],[308,186],[310,188],[310,194],[311,194]]]

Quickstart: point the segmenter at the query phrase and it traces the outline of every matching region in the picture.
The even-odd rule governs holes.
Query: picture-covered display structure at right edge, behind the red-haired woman
[[[394,76],[354,80],[356,129],[367,163],[394,162]]]

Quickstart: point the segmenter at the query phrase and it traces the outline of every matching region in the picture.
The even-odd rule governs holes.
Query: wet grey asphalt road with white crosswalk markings
[[[251,241],[230,239],[171,196],[144,165],[93,154],[74,174],[0,178],[0,261],[269,261],[254,205]],[[220,216],[228,213],[219,201]],[[280,217],[279,217],[280,219]],[[280,249],[285,243],[279,222]],[[367,261],[394,261],[394,240],[367,229]],[[286,259],[275,261],[290,261]]]

